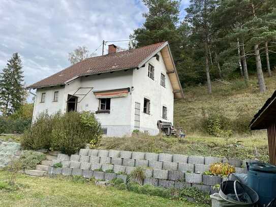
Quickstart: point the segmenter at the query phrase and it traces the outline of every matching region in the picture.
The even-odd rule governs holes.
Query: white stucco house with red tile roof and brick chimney
[[[107,136],[137,129],[159,133],[157,121],[173,123],[174,99],[182,88],[168,42],[86,58],[27,86],[36,89],[33,121],[47,110],[92,111]]]

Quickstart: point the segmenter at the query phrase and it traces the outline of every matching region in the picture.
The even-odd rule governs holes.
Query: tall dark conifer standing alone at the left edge
[[[23,104],[23,70],[20,56],[14,53],[7,66],[0,73],[0,106],[3,115],[15,112]]]

